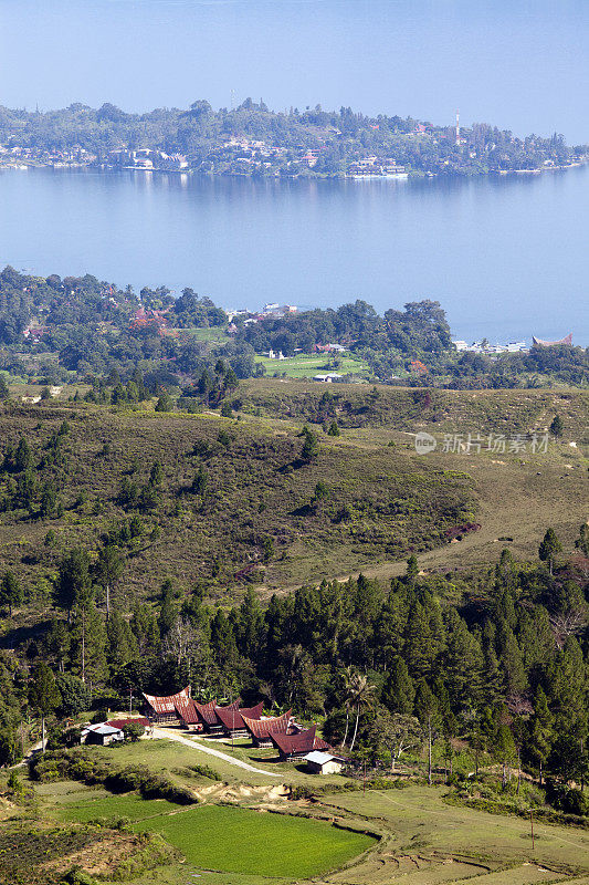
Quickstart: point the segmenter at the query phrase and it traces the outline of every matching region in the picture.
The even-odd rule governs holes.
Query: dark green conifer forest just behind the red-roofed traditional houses
[[[157,462],[149,482],[161,482]],[[199,493],[206,482],[201,471]],[[539,564],[504,551],[491,570],[427,576],[412,555],[388,589],[362,575],[324,581],[273,596],[265,608],[250,589],[229,612],[204,603],[204,584],[187,596],[170,581],[156,604],[129,611],[113,596],[123,543],[105,538],[94,559],[81,548],[66,553],[55,616],[0,662],[9,686],[1,761],[19,756],[28,704],[40,716],[64,716],[105,693],[123,699],[190,681],[203,699],[262,696],[269,708],[319,718],[330,741],[386,764],[423,742],[451,756],[460,738],[504,770],[519,759],[540,781],[587,777],[587,527],[572,556],[548,529]],[[8,575],[1,602],[22,605]]]

